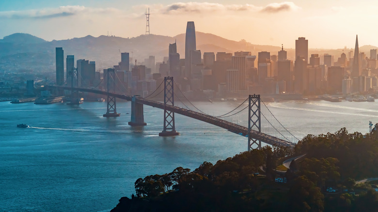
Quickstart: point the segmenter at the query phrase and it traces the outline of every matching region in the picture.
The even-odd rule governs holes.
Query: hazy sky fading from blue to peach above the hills
[[[157,3],[158,2],[158,3]],[[51,41],[145,33],[185,33],[187,21],[197,31],[252,44],[295,47],[298,37],[309,48],[378,46],[378,2],[371,0],[0,0],[0,38],[24,32]]]

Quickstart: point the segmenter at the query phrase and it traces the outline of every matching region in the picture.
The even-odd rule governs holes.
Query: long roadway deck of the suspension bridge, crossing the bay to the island
[[[64,86],[45,86],[46,89],[62,89],[62,90],[70,90],[70,91],[83,91],[83,92],[91,92],[91,93],[97,93],[97,94],[102,94],[102,95],[110,95],[114,96],[119,99],[125,99],[127,101],[131,101],[131,96],[125,95],[125,94],[119,94],[119,93],[111,93],[107,91],[100,91],[100,90],[94,90],[94,89],[86,89],[86,88],[71,88],[71,87],[64,87]],[[160,109],[164,109],[164,103],[156,102],[153,100],[148,100],[148,99],[143,99],[142,97],[138,97],[136,100],[137,103],[147,105],[147,106],[152,106],[152,107],[157,107]],[[229,122],[229,121],[224,121],[218,118],[215,118],[213,116],[195,112],[192,110],[184,109],[181,107],[177,106],[170,106],[167,105],[166,109],[169,111],[172,111],[174,113],[187,116],[196,120],[204,121],[206,123],[210,123],[216,126],[219,126],[221,128],[224,128],[226,130],[229,130],[231,132],[234,132],[236,134],[242,134],[242,135],[248,135],[248,127],[243,127],[238,124]],[[251,137],[253,139],[260,140],[261,142],[274,145],[274,146],[284,146],[284,147],[294,147],[294,143],[291,143],[289,141],[283,140],[278,137],[274,136],[269,136],[265,133],[260,133],[255,130],[251,130]]]

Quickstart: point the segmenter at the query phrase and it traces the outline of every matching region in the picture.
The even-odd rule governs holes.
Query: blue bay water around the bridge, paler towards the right
[[[215,114],[234,102],[198,103]],[[368,132],[378,103],[325,101],[270,103],[295,136]],[[135,193],[134,182],[176,167],[194,169],[247,150],[247,139],[178,114],[180,136],[159,137],[163,111],[144,106],[147,126],[131,127],[130,102],[117,102],[118,118],[103,118],[104,102],[34,105],[0,102],[0,211],[97,212]],[[31,128],[17,128],[25,123]]]

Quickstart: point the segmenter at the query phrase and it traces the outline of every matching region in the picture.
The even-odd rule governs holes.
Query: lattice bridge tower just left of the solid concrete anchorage
[[[107,71],[107,91],[108,93],[109,92],[112,92],[112,93],[115,93],[115,70],[114,68],[108,68],[108,71]],[[110,78],[112,78],[112,83],[110,81]],[[107,104],[107,110],[106,110],[106,113],[103,115],[104,117],[118,117],[120,116],[121,114],[120,113],[117,113],[117,107],[116,107],[116,104],[115,104],[115,97],[114,96],[110,96],[108,94],[108,104]]]

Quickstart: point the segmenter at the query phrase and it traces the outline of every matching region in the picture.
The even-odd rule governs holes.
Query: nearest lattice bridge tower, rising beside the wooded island
[[[261,149],[261,141],[251,137],[251,129],[256,127],[261,132],[261,111],[260,111],[260,94],[249,96],[248,110],[248,151],[251,149]],[[252,142],[251,142],[252,141]]]

